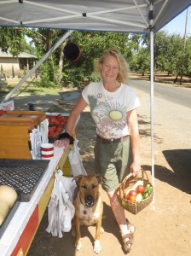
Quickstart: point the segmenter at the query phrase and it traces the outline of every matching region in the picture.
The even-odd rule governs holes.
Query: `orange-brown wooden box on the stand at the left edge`
[[[0,116],[0,158],[32,159],[30,132],[46,118],[38,111],[7,111]]]

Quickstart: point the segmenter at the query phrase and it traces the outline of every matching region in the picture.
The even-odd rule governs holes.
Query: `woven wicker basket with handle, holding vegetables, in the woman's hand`
[[[127,177],[124,178],[123,182],[119,184],[118,189],[116,189],[120,205],[125,210],[133,214],[141,212],[142,209],[147,207],[153,201],[153,192],[148,196],[148,198],[142,201],[128,201],[125,199],[125,191],[127,189],[130,189],[138,180],[142,180],[144,186],[147,186],[147,184],[150,184],[152,186],[152,184],[148,180],[147,173],[145,171],[142,171],[142,177],[133,177],[130,173]]]

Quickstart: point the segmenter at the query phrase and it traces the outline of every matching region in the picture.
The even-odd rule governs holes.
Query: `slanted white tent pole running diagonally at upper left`
[[[40,61],[38,61],[38,63],[34,67],[32,67],[30,72],[26,73],[26,75],[20,80],[20,82],[14,87],[14,89],[11,90],[7,96],[5,96],[1,103],[8,101],[9,98],[14,94],[14,91],[20,88],[20,85],[23,84],[26,81],[26,79],[28,79],[32,75],[32,73],[35,72],[35,70],[43,63],[43,61],[46,61],[46,59],[48,59],[49,55],[51,55],[54,52],[54,50],[57,49],[72,34],[72,32],[73,31],[70,30],[66,34],[64,34],[64,36],[61,37],[45,55],[43,55],[43,58]]]

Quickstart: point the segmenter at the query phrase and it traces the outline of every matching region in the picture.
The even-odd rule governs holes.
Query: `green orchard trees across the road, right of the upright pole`
[[[149,35],[142,36],[142,45],[149,51]],[[154,34],[154,69],[155,71],[173,73],[176,76],[190,73],[191,40],[187,39],[186,44],[180,35],[168,35],[161,31]],[[138,55],[142,55],[142,50]],[[137,63],[136,63],[137,64]],[[142,65],[147,65],[144,61]],[[142,68],[140,68],[142,72]]]

